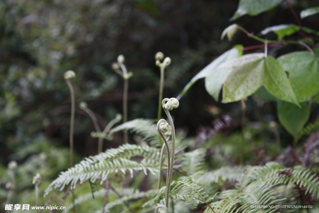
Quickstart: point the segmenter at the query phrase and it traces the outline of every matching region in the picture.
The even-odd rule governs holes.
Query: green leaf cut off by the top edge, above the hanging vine
[[[233,21],[246,14],[256,16],[259,13],[270,10],[281,2],[282,0],[240,0],[238,9],[230,20]]]

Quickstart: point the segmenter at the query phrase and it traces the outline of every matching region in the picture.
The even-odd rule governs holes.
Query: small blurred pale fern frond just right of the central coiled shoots
[[[198,148],[192,152],[184,154],[182,161],[182,169],[191,175],[203,168],[205,150]]]

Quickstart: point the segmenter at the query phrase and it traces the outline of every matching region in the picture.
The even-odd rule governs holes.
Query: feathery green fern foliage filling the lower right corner
[[[310,194],[319,199],[319,183],[316,174],[310,170],[295,166],[286,168],[278,163],[270,162],[265,166],[252,166],[246,169],[235,189],[221,192],[218,199],[210,205],[218,212],[272,212],[276,209],[248,209],[247,204],[275,204],[285,202],[287,197],[275,190],[280,185],[288,188],[299,186],[305,189],[304,194]],[[288,195],[286,195],[288,196]],[[205,213],[212,213],[206,208]]]

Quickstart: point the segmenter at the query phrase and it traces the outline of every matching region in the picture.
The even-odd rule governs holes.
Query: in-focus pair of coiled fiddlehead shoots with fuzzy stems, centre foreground
[[[173,123],[173,119],[172,119],[172,116],[171,114],[169,113],[170,110],[173,110],[174,108],[177,108],[179,106],[179,102],[176,98],[164,98],[163,101],[162,101],[162,107],[165,111],[165,113],[167,114],[167,117],[168,117],[168,120],[169,120],[169,123],[172,127],[172,152],[171,152],[171,156],[170,156],[170,159],[168,157],[168,160],[167,161],[170,161],[170,164],[168,166],[168,169],[167,169],[167,180],[166,180],[166,191],[165,191],[165,205],[168,209],[168,201],[169,201],[169,191],[170,191],[170,186],[171,186],[171,181],[172,181],[172,174],[173,174],[173,166],[174,166],[174,155],[175,155],[175,128],[174,128],[174,123]],[[164,119],[161,119],[158,123],[158,130],[159,130],[159,126],[160,126],[160,123],[164,122],[163,121]],[[165,122],[164,122],[164,125],[163,126],[163,130],[165,130],[166,127],[165,126]],[[166,141],[166,139],[164,138],[163,134],[161,134],[161,131],[159,131],[159,135],[162,137],[162,139],[164,140],[164,142]],[[166,145],[166,144],[165,144]],[[169,148],[168,148],[168,145],[167,145],[167,153],[169,152]]]

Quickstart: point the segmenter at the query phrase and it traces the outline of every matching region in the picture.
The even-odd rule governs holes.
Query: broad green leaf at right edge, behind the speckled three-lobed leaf
[[[299,102],[305,102],[319,91],[318,58],[309,51],[283,55],[278,62],[289,72],[289,81]]]

